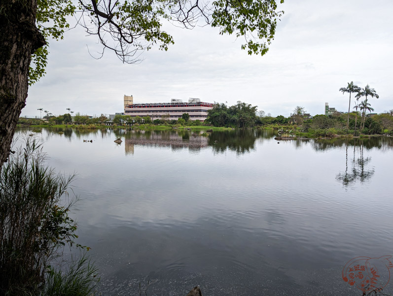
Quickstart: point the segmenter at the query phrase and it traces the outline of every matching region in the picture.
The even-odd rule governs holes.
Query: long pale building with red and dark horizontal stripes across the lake
[[[190,115],[190,120],[204,121],[208,116],[208,111],[213,109],[214,104],[201,102],[200,99],[190,98],[188,103],[181,100],[172,99],[171,103],[145,103],[145,104],[125,104],[124,114],[132,117],[149,116],[154,119],[178,119],[183,113]]]

